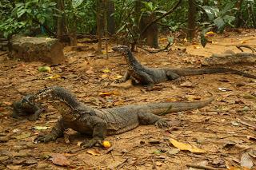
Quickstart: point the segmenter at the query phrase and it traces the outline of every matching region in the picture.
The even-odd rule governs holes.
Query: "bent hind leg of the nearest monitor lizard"
[[[169,123],[153,113],[138,113],[138,121],[140,125],[156,125],[158,128],[169,127]]]

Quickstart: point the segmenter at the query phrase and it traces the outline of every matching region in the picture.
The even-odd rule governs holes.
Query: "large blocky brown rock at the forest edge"
[[[24,61],[42,61],[59,64],[65,61],[63,45],[55,38],[31,38],[14,36],[11,39],[12,58]]]

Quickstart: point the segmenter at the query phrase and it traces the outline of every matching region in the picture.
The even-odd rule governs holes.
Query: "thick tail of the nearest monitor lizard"
[[[165,103],[154,103],[147,104],[146,111],[149,113],[154,113],[156,115],[165,115],[167,113],[174,112],[182,112],[191,109],[199,109],[204,107],[205,105],[210,104],[210,102],[214,101],[214,96],[211,94],[206,101],[194,101],[194,102],[165,102]]]

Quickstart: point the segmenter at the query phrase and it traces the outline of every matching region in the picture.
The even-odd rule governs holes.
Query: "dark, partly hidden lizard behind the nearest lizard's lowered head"
[[[31,105],[28,101],[30,97],[30,95],[27,95],[26,97],[23,97],[20,101],[14,101],[14,103],[12,104],[12,117],[18,118],[20,116],[33,114],[33,117],[29,118],[30,121],[36,121],[39,119],[40,114],[43,112],[43,109],[40,109],[38,105]]]

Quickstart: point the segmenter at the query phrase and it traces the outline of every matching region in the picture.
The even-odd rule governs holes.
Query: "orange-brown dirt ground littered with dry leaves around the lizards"
[[[255,35],[255,30],[243,30],[242,34],[216,36],[214,44],[206,48],[184,42],[175,43],[168,52],[148,53],[138,49],[134,55],[150,67],[198,67],[212,53],[226,49],[238,52],[235,47],[238,44],[255,47]],[[166,44],[164,39],[161,44]],[[256,169],[255,80],[220,73],[186,77],[180,85],[166,81],[156,85],[158,90],[150,92],[128,83],[114,87],[111,84],[125,72],[124,57],[109,50],[107,59],[105,55],[94,55],[97,44],[80,45],[86,45],[86,50],[66,47],[66,63],[52,65],[50,73],[38,72],[38,66],[45,65],[41,62],[0,57],[0,169],[197,169],[191,168],[193,165],[212,169]],[[186,48],[186,53],[178,47]],[[230,65],[230,68],[256,75],[256,65]],[[51,85],[69,89],[79,101],[94,108],[200,101],[210,96],[208,92],[214,94],[215,100],[202,109],[166,115],[171,125],[168,129],[139,126],[130,132],[107,136],[111,148],[79,150],[77,144],[90,137],[72,130],[66,132],[65,140],[59,138],[56,142],[34,144],[34,138],[39,133],[49,132],[60,116],[49,103],[43,104],[46,111],[38,121],[10,117],[13,101]],[[180,151],[170,144],[171,138],[205,152]],[[252,165],[252,168],[241,168]]]

